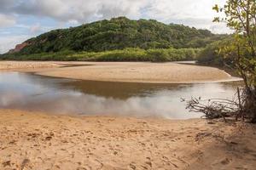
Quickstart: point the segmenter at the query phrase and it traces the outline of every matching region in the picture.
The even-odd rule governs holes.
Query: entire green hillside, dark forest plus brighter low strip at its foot
[[[119,17],[49,31],[27,40],[20,52],[3,54],[1,59],[188,60],[195,58],[199,48],[223,37],[189,26]]]

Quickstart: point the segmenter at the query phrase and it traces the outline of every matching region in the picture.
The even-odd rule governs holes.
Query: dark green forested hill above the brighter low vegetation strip
[[[26,55],[66,50],[101,52],[124,48],[203,48],[219,37],[211,31],[189,26],[119,17],[49,31],[23,42],[9,53]]]

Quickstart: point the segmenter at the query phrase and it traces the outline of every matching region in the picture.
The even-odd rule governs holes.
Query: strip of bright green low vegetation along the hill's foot
[[[61,60],[61,61],[182,61],[195,60],[201,48],[142,49],[125,48],[104,52],[61,51],[40,54],[4,54],[1,59],[11,60]]]

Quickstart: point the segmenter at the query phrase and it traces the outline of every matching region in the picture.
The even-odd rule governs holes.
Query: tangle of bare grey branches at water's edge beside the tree
[[[201,112],[207,119],[223,117],[224,121],[226,121],[226,117],[235,117],[236,120],[239,118],[244,120],[243,107],[245,99],[241,91],[243,92],[243,89],[237,88],[233,99],[201,99],[199,97],[189,100],[182,99],[182,101],[186,102],[186,109],[189,109],[191,112]]]

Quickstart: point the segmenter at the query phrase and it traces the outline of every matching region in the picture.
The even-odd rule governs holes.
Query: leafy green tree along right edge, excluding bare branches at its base
[[[219,54],[230,59],[243,78],[245,90],[240,115],[256,122],[256,1],[227,0],[224,7],[216,5],[213,9],[225,14],[214,21],[224,21],[235,31],[233,40],[220,48]]]

